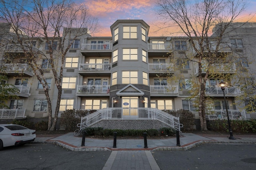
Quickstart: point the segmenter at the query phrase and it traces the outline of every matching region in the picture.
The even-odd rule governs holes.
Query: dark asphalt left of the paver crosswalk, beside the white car
[[[0,170],[101,170],[110,151],[73,152],[55,144],[28,144],[0,151]]]

